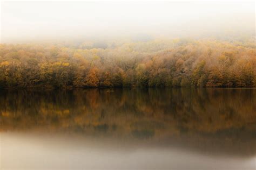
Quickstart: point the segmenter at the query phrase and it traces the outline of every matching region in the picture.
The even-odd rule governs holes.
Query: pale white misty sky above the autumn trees
[[[136,34],[254,33],[253,1],[10,2],[1,6],[1,41]]]

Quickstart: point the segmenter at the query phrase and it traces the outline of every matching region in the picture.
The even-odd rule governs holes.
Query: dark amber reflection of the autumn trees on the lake
[[[45,143],[44,139],[62,136],[58,145],[63,143],[63,138],[71,141],[65,148],[75,147],[76,140],[80,148],[93,148],[89,145],[93,143],[97,150],[100,145],[111,151],[143,149],[142,155],[152,150],[156,151],[153,153],[179,150],[160,154],[161,157],[170,154],[172,161],[175,155],[182,158],[183,152],[198,154],[196,158],[202,157],[200,159],[210,155],[252,160],[256,155],[256,89],[1,91],[0,125],[2,136],[9,144],[19,134],[31,139],[29,143],[34,143],[32,139],[36,135],[47,134],[51,137],[40,141]],[[6,141],[2,157],[11,147]],[[124,153],[117,155],[122,161]],[[102,155],[98,157],[104,160]],[[166,162],[158,161],[157,169],[167,168]],[[199,162],[195,168],[204,167],[203,162],[201,166]],[[177,168],[182,167],[180,162]]]

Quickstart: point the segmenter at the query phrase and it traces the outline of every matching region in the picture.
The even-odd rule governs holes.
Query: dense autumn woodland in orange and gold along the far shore
[[[255,86],[254,38],[0,44],[1,88]]]

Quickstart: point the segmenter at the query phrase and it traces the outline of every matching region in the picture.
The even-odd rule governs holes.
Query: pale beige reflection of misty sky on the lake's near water
[[[211,157],[181,148],[0,133],[3,169],[254,169],[255,158]],[[111,145],[112,144],[112,145]]]

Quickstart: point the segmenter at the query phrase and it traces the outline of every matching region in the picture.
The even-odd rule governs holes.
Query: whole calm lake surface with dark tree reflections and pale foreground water
[[[256,89],[0,91],[0,169],[255,169]]]

